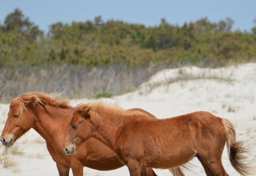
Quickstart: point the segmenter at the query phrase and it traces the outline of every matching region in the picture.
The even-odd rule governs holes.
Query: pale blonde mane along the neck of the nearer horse
[[[102,102],[91,102],[91,103],[81,103],[77,105],[77,111],[83,109],[83,108],[89,108],[91,107],[90,111],[94,111],[100,114],[107,114],[107,115],[113,115],[113,116],[143,116],[147,117],[144,112],[139,112],[139,111],[127,111],[125,109],[122,109],[120,107],[112,106],[112,105],[107,105],[106,103]]]

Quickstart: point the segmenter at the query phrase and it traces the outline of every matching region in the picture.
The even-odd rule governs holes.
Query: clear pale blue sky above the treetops
[[[0,5],[0,23],[4,23],[7,14],[19,8],[26,17],[48,31],[49,25],[57,22],[84,22],[101,16],[109,19],[123,20],[128,23],[159,25],[165,18],[173,25],[207,17],[211,22],[219,22],[230,17],[234,20],[233,29],[250,31],[256,26],[255,0],[2,0]]]

